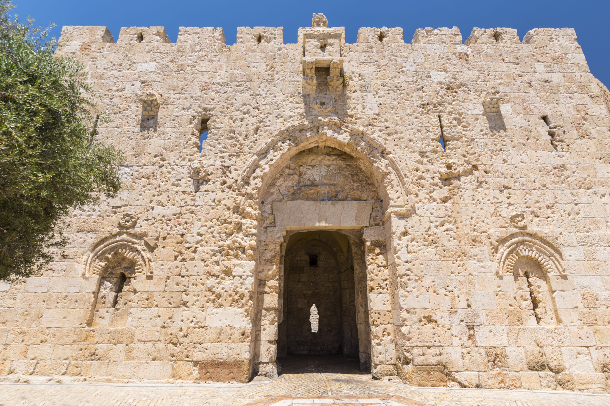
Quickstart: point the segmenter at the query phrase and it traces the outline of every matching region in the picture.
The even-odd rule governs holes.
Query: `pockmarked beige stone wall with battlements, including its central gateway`
[[[607,392],[608,88],[573,29],[409,38],[63,27],[123,189],[0,285],[0,379],[245,384],[318,354],[359,385]]]

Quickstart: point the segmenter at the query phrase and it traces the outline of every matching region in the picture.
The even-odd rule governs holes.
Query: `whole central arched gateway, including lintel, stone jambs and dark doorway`
[[[279,332],[283,355],[291,351],[359,354],[361,369],[372,368],[375,376],[397,374],[396,346],[400,344],[393,320],[400,306],[394,262],[399,249],[393,234],[397,217],[410,215],[412,204],[409,187],[389,150],[336,117],[300,122],[262,145],[240,181],[244,206],[260,212],[253,312],[255,372],[277,374]],[[304,280],[292,280],[303,256],[323,256],[311,243],[295,247],[303,246],[303,239],[324,246],[343,275],[337,280],[336,289],[342,291],[337,303],[320,308],[320,326],[325,331],[312,334],[311,340],[317,340],[315,349],[311,342],[309,347],[286,342],[296,334],[286,330],[291,328],[287,312],[295,315],[297,307],[309,309],[315,303],[304,303],[306,296],[319,289],[316,284],[325,285],[320,285],[320,278],[331,278],[320,272],[312,276],[318,265],[310,261],[301,272]],[[340,241],[345,242],[343,250],[337,248]],[[303,252],[287,254],[287,248]],[[337,256],[349,261],[341,264]],[[306,275],[308,270],[312,275]],[[353,292],[347,292],[350,289]],[[295,307],[293,301],[303,303]],[[345,310],[328,314],[337,324],[327,326],[325,309],[337,306]],[[342,341],[325,343],[324,334],[342,337]],[[352,343],[357,343],[357,351]]]

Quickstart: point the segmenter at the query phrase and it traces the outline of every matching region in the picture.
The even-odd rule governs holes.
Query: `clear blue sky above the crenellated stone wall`
[[[171,41],[178,27],[223,27],[228,44],[238,26],[284,27],[284,43],[296,42],[298,27],[311,24],[312,12],[324,13],[329,26],[344,26],[348,43],[359,27],[403,27],[405,42],[417,28],[457,26],[465,40],[472,27],[512,27],[523,39],[539,27],[572,27],[591,72],[610,86],[610,0],[581,1],[226,1],[226,0],[13,0],[20,18],[59,27],[107,26],[118,38],[121,27],[165,26]]]

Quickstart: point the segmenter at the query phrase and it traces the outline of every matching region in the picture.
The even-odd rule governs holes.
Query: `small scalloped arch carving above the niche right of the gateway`
[[[507,242],[498,250],[495,263],[496,275],[512,274],[515,262],[520,257],[533,259],[547,274],[566,275],[564,267],[561,265],[562,256],[559,248],[534,234],[519,233],[517,236],[514,234],[513,236],[506,237],[504,240]]]

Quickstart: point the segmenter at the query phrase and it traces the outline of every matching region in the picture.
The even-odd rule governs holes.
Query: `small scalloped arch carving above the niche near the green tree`
[[[106,265],[124,257],[135,263],[134,276],[152,276],[152,259],[140,237],[117,233],[99,240],[81,260],[83,278],[100,275]]]

